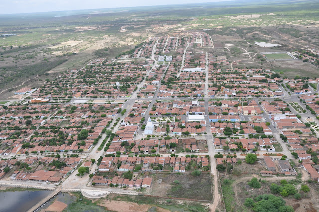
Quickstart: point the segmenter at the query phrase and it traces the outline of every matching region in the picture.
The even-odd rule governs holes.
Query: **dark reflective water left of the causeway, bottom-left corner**
[[[0,192],[0,212],[26,212],[52,191]]]

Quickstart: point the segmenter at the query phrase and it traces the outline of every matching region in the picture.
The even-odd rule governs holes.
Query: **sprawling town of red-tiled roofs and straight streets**
[[[215,53],[223,47],[205,31],[149,37],[14,91],[19,100],[0,106],[0,184],[204,200],[223,211],[231,173],[318,182],[319,78],[237,68]],[[194,185],[202,193],[187,195]]]

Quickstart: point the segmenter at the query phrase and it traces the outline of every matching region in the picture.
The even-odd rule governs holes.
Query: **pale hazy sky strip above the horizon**
[[[0,14],[207,3],[229,0],[0,0]]]

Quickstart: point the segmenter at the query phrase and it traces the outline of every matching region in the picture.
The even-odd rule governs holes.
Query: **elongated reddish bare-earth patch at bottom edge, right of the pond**
[[[116,212],[146,212],[151,206],[148,205],[139,205],[137,203],[129,203],[125,201],[109,201],[103,200],[101,203],[98,203],[100,206],[106,207],[110,211]]]

